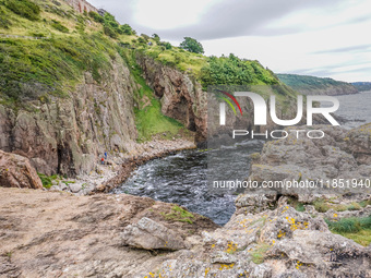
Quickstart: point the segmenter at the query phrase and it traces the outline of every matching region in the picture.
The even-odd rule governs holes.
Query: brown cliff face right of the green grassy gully
[[[205,141],[207,96],[201,84],[185,73],[145,56],[137,56],[137,63],[146,82],[160,98],[163,113],[196,132],[196,142]]]

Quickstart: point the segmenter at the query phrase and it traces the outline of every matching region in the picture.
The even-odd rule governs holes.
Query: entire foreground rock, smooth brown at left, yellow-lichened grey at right
[[[371,276],[370,246],[331,233],[286,197],[217,227],[164,217],[173,205],[147,197],[0,193],[0,277]]]

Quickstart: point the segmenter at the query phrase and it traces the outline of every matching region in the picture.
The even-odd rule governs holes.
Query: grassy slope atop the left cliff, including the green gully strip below
[[[101,74],[110,70],[110,61],[125,51],[118,41],[132,37],[122,35],[116,40],[104,35],[99,23],[74,12],[63,1],[60,5],[56,1],[34,2],[41,8],[35,21],[20,16],[0,2],[1,19],[8,19],[7,27],[0,25],[0,34],[44,37],[39,40],[0,37],[0,104],[14,109],[32,109],[29,101],[34,100],[69,97],[85,71],[92,72],[99,83]],[[135,61],[128,62],[141,87],[135,94],[139,98],[145,94],[149,99],[149,106],[135,109],[139,140],[151,140],[157,133],[166,133],[168,138],[183,133],[179,122],[161,114],[159,100],[141,77]]]

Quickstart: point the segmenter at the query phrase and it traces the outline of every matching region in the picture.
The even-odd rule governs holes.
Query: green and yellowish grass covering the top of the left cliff
[[[110,68],[116,44],[74,15],[67,5],[48,9],[41,1],[0,2],[0,32],[20,37],[0,37],[0,94],[3,104],[24,105],[24,101],[47,101],[50,96],[65,97],[85,71],[101,81],[100,72]],[[59,11],[59,14],[56,14]],[[58,12],[57,12],[58,13]],[[69,29],[72,29],[71,34]],[[80,28],[80,29],[79,29]],[[26,36],[26,37],[25,37]],[[31,39],[28,37],[41,37]]]

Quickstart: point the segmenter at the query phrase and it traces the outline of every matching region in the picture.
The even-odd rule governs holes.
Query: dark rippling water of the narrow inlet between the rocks
[[[232,178],[236,169],[242,176],[249,176],[250,157],[260,152],[262,141],[246,141],[228,147],[232,161],[220,165],[225,179]],[[207,156],[217,156],[224,149],[183,150],[176,155],[151,160],[140,166],[113,194],[127,193],[147,196],[166,203],[187,207],[190,211],[211,218],[218,225],[225,225],[236,210],[236,195],[211,192],[207,188]]]

